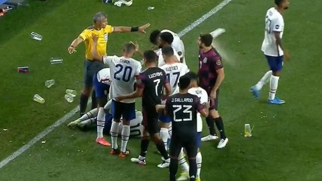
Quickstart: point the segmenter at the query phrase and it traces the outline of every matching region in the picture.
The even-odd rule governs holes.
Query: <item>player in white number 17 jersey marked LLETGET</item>
[[[189,72],[189,69],[187,65],[177,61],[172,47],[163,47],[161,51],[163,59],[165,60],[165,64],[162,65],[160,68],[166,73],[167,79],[171,87],[170,95],[173,95],[179,92],[179,78],[182,75]],[[165,148],[167,149],[167,141],[171,137],[168,131],[168,128],[171,124],[171,119],[161,113],[159,120],[161,122],[161,139],[164,143]]]

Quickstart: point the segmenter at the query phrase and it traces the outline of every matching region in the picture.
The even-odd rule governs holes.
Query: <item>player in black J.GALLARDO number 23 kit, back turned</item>
[[[208,116],[208,107],[200,104],[200,99],[193,94],[188,93],[190,86],[190,76],[185,74],[180,77],[177,94],[169,96],[165,106],[157,105],[156,109],[169,115],[172,122],[172,137],[170,143],[170,181],[176,181],[178,171],[178,157],[183,147],[186,150],[190,168],[190,181],[196,181],[197,163],[196,156],[198,152],[198,134],[197,134],[197,112],[202,116]]]

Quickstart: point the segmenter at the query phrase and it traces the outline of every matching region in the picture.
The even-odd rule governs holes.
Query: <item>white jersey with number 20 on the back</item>
[[[104,64],[110,67],[112,86],[110,88],[110,98],[124,94],[130,94],[134,91],[136,76],[141,72],[141,63],[133,58],[104,56]],[[123,103],[134,103],[134,99],[122,100]]]

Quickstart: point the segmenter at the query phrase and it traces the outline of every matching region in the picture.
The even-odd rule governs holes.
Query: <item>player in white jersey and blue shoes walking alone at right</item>
[[[285,101],[275,97],[279,79],[283,66],[283,59],[287,60],[289,55],[282,46],[282,36],[284,31],[284,19],[282,13],[288,9],[288,0],[275,0],[276,7],[270,8],[265,17],[265,38],[262,43],[264,53],[270,71],[266,72],[262,79],[253,87],[251,92],[254,98],[258,99],[264,84],[270,80],[270,90],[268,95],[269,104],[284,104]]]

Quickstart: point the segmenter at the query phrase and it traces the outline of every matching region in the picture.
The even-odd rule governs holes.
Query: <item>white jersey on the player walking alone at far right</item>
[[[266,13],[265,18],[265,37],[262,43],[262,52],[268,56],[282,56],[284,54],[282,48],[276,45],[274,32],[281,32],[282,39],[284,31],[284,19],[277,9],[270,8]]]

